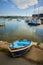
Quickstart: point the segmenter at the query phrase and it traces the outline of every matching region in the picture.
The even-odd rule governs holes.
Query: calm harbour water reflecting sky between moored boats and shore
[[[29,26],[24,20],[17,19],[0,19],[0,23],[5,23],[0,27],[0,40],[12,42],[24,38],[43,42],[43,25]]]

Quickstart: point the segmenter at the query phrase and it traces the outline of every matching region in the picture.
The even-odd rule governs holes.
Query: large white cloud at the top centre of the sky
[[[11,0],[17,5],[19,9],[26,9],[29,6],[35,5],[38,3],[37,0]]]

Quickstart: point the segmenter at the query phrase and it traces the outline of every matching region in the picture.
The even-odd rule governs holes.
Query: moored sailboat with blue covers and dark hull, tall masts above
[[[34,5],[34,8],[35,8],[35,5]],[[34,9],[35,11],[35,9]],[[38,9],[38,13],[39,13],[39,9]],[[31,26],[38,26],[38,25],[41,25],[41,21],[39,19],[39,14],[38,16],[36,16],[36,14],[34,14],[32,16],[32,19],[31,20],[28,20],[28,25],[31,25]]]

